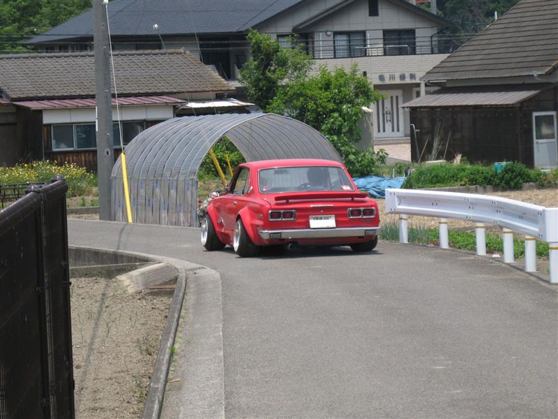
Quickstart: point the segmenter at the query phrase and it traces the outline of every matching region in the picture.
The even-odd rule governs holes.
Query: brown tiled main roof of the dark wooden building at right
[[[422,80],[548,74],[558,64],[558,0],[522,0]]]

